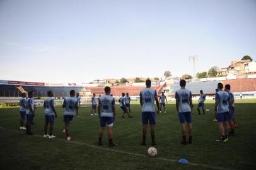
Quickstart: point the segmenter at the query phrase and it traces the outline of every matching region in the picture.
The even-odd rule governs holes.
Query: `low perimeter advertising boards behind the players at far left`
[[[62,100],[54,100],[54,105],[62,105]],[[35,106],[44,106],[44,100],[35,99]],[[0,101],[0,108],[20,108],[18,101]]]

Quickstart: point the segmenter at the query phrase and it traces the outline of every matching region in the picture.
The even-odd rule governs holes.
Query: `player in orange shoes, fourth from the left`
[[[74,112],[78,115],[78,99],[75,98],[76,92],[74,90],[70,91],[70,97],[67,97],[63,101],[62,108],[65,108],[64,111],[64,122],[65,127],[64,131],[67,136],[67,140],[71,140],[71,135],[69,135],[69,124],[73,120]]]

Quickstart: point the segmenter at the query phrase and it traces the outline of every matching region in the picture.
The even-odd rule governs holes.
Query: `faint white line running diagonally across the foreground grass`
[[[4,128],[4,127],[0,127],[0,130],[8,130],[8,131],[11,131],[11,132],[15,132],[15,133],[20,133],[20,134],[24,134],[24,133],[21,133],[19,131],[16,131],[16,130],[11,130],[11,129],[8,129],[8,128]],[[33,135],[34,137],[40,137],[40,138],[44,138],[42,135]],[[75,140],[64,140],[64,139],[58,139],[58,138],[55,138],[55,139],[49,139],[49,140],[58,140],[58,141],[62,141],[62,142],[68,142],[68,143],[73,143],[73,144],[78,144],[78,145],[86,145],[88,147],[93,147],[95,149],[100,149],[100,150],[107,150],[107,151],[110,151],[110,152],[116,152],[116,153],[119,153],[119,154],[126,154],[126,155],[130,155],[130,156],[138,156],[138,157],[148,157],[146,156],[146,154],[136,154],[136,153],[132,153],[132,152],[126,152],[126,151],[123,151],[123,150],[117,150],[117,149],[108,149],[108,148],[105,148],[105,147],[98,147],[96,145],[91,145],[91,144],[87,144],[85,142],[78,142],[78,141],[75,141]],[[152,159],[152,158],[151,158]],[[156,159],[156,160],[160,160],[160,161],[167,161],[167,162],[178,162],[177,160],[175,159],[168,159],[168,158],[165,158],[165,157],[154,157],[153,159]],[[211,165],[207,165],[207,164],[196,164],[196,163],[190,163],[189,162],[189,165],[190,166],[200,166],[200,167],[206,167],[206,168],[210,168],[210,169],[217,169],[217,170],[228,170],[228,168],[226,167],[220,167],[220,166],[211,166]]]

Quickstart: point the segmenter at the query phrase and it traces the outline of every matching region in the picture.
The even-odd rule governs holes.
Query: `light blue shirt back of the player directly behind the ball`
[[[146,88],[142,89],[139,96],[143,101],[142,111],[155,111],[154,110],[154,99],[157,98],[157,93],[155,89]]]

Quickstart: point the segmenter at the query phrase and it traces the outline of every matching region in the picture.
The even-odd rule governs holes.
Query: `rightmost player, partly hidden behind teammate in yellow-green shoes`
[[[233,92],[230,91],[230,89],[231,89],[230,84],[226,84],[224,91],[226,91],[226,92],[228,92],[228,94],[230,94],[230,100],[231,100],[231,104],[232,104],[231,114],[228,115],[228,123],[230,125],[231,131],[228,134],[235,135],[234,122],[233,122],[234,114],[235,114],[235,98],[234,98]]]

